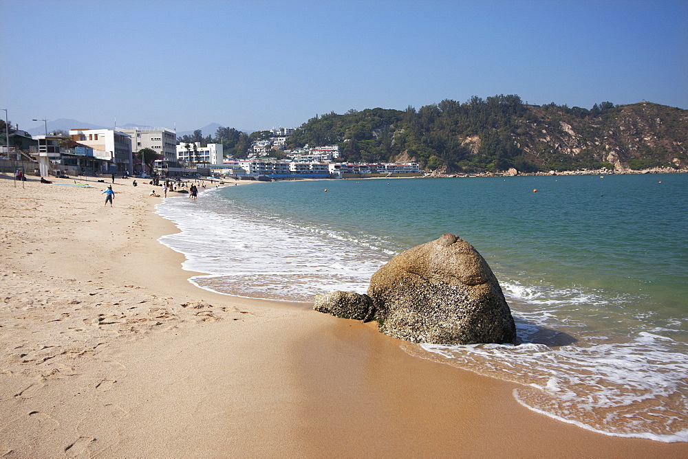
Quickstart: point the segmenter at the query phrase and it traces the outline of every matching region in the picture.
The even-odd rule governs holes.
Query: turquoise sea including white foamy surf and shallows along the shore
[[[208,273],[192,282],[255,298],[363,293],[394,254],[456,234],[495,271],[522,344],[407,352],[519,383],[561,421],[688,441],[688,175],[250,183],[158,212],[182,229],[161,241]]]

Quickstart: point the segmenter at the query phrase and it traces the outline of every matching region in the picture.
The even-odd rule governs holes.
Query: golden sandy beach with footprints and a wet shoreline
[[[688,456],[526,410],[374,324],[199,289],[138,181],[110,207],[108,183],[0,175],[3,456]]]

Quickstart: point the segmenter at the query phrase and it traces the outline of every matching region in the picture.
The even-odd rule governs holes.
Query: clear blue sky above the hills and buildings
[[[686,0],[0,0],[0,18],[0,108],[25,129],[297,127],[502,93],[688,109]]]

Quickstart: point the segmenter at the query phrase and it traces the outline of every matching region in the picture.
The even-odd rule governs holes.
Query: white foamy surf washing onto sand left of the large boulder
[[[207,273],[191,278],[204,289],[294,301],[334,290],[365,293],[372,273],[389,259],[350,239],[228,209],[222,201],[174,199],[159,205],[158,214],[181,231],[160,242],[186,255],[184,269]]]

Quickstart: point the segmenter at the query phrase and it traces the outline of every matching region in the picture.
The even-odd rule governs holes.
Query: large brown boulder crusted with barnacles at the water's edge
[[[513,343],[504,293],[482,256],[444,234],[395,256],[370,279],[380,331],[411,342]]]

